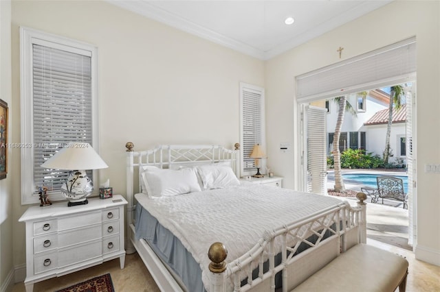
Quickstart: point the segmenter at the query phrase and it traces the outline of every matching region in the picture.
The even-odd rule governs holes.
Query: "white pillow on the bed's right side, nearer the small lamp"
[[[197,167],[197,172],[205,190],[240,185],[240,181],[236,178],[234,171],[225,165],[201,165]]]

